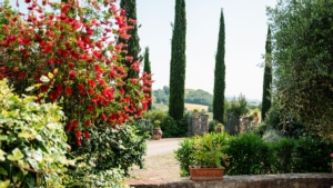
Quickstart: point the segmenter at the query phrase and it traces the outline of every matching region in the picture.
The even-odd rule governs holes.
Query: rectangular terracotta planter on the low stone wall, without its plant
[[[209,181],[222,180],[224,168],[193,168],[189,167],[191,180],[194,181]]]

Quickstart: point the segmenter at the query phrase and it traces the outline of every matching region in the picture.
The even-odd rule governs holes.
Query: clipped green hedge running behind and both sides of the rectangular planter
[[[215,137],[221,137],[218,133]],[[226,175],[265,175],[289,172],[331,172],[333,144],[319,138],[302,137],[300,139],[283,138],[269,145],[255,133],[229,136],[224,152],[232,156]],[[175,151],[180,161],[181,176],[189,176],[189,165],[193,164],[193,138],[180,142]]]

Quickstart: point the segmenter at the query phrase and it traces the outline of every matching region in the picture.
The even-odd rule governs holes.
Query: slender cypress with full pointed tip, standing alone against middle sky
[[[225,90],[225,31],[224,16],[221,10],[220,31],[218,52],[215,56],[215,77],[214,77],[214,96],[213,96],[213,119],[219,122],[224,122],[224,90]]]

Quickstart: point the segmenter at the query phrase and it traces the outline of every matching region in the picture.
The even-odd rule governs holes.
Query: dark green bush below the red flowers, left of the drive
[[[78,147],[75,156],[84,158],[84,162],[93,164],[97,170],[120,168],[128,175],[132,165],[143,168],[143,156],[147,151],[145,139],[149,135],[138,135],[134,126],[123,125],[118,129],[91,128],[91,139]],[[90,154],[87,152],[90,151]]]

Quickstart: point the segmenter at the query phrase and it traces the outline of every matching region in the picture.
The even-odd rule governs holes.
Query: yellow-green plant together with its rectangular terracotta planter
[[[189,167],[191,180],[222,180],[224,167],[230,156],[223,152],[226,147],[225,139],[216,137],[215,133],[196,136],[194,141],[194,152],[192,157],[194,164]]]

